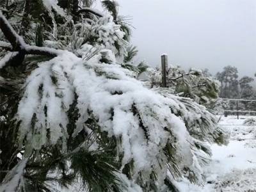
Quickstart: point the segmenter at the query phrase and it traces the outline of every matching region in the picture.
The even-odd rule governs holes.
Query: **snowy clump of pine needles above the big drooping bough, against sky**
[[[75,52],[77,56],[84,57],[83,54],[88,54],[88,50],[84,50],[88,48],[88,44],[110,49],[118,56],[126,53],[128,42],[123,39],[125,33],[120,29],[120,25],[114,22],[111,15],[94,19],[93,22],[76,24],[74,28],[72,34],[69,34],[70,31],[65,31],[65,35],[71,36],[67,45],[68,50]]]

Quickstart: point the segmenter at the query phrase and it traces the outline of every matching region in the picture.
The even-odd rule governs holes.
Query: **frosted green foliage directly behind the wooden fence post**
[[[148,86],[161,86],[161,70],[147,68]],[[218,98],[219,84],[212,77],[204,76],[200,70],[191,68],[185,72],[180,67],[168,69],[167,85],[170,92],[194,99],[199,104],[210,105]]]

